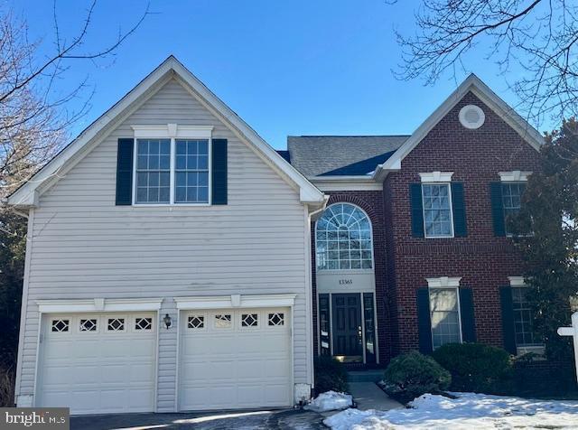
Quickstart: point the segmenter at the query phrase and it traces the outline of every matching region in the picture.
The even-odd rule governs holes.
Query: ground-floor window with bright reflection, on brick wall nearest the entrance
[[[461,342],[458,288],[430,288],[429,293],[433,349]]]

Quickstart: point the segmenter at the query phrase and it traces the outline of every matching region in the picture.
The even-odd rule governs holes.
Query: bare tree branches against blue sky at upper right
[[[475,48],[514,77],[509,85],[528,119],[560,122],[578,114],[576,18],[578,4],[564,0],[423,0],[416,33],[396,32],[403,48],[396,77],[426,84],[447,72],[455,78]]]

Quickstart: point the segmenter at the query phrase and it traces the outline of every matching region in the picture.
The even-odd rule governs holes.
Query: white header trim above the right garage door
[[[174,297],[178,310],[230,309],[236,307],[287,307],[294,306],[297,294],[232,294]]]

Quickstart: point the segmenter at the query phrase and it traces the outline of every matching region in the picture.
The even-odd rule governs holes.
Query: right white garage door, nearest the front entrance
[[[292,405],[289,309],[183,311],[181,410]]]

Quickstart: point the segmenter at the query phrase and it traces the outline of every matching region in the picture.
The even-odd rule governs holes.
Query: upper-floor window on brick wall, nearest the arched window
[[[452,238],[452,191],[449,183],[422,183],[426,238]]]

